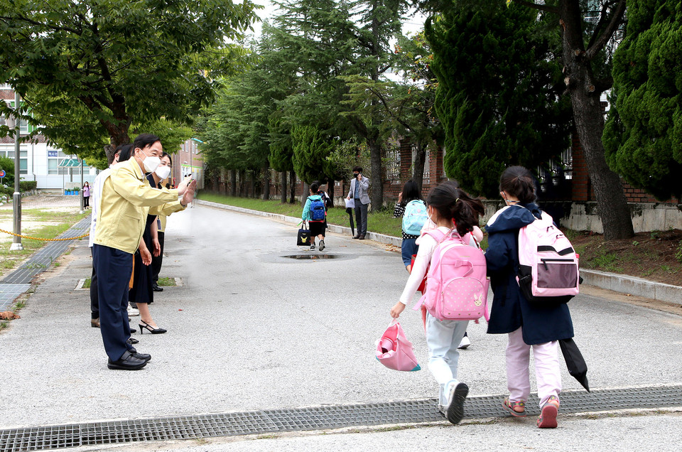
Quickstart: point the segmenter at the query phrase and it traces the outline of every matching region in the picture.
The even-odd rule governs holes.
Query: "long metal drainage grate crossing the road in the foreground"
[[[470,397],[465,418],[507,416],[502,395]],[[537,398],[529,400],[530,415],[537,415]],[[561,413],[682,407],[682,385],[563,392]],[[79,446],[169,441],[287,431],[339,429],[353,426],[416,424],[443,421],[435,399],[379,404],[266,409],[200,416],[131,419],[0,431],[0,452],[23,452]]]

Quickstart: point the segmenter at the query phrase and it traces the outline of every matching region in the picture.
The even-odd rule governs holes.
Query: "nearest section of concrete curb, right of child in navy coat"
[[[598,270],[580,269],[580,276],[583,276],[583,284],[590,284],[590,286],[609,289],[621,294],[653,298],[675,306],[682,305],[682,287],[680,286]]]

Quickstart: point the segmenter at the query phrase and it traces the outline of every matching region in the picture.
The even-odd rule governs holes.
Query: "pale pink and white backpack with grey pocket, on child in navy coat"
[[[565,303],[578,295],[578,254],[545,212],[519,230],[516,281],[528,301]]]

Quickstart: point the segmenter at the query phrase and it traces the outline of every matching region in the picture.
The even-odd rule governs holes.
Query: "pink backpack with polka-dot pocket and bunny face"
[[[426,274],[426,291],[415,309],[423,304],[439,320],[472,320],[488,316],[488,286],[485,256],[468,244],[456,230],[447,235],[439,230],[425,234],[438,240]]]

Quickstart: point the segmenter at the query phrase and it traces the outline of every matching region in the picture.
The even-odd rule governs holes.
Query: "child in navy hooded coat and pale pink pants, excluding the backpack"
[[[504,407],[512,416],[526,415],[532,348],[541,407],[537,425],[553,428],[557,425],[561,392],[558,340],[573,337],[573,322],[565,303],[529,303],[516,282],[519,229],[540,217],[533,176],[521,166],[507,168],[500,178],[499,190],[506,206],[485,226],[488,233],[485,260],[494,294],[487,332],[509,334],[506,353],[509,397],[504,400]]]

